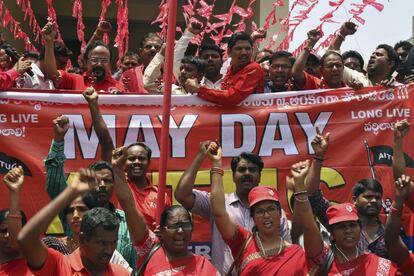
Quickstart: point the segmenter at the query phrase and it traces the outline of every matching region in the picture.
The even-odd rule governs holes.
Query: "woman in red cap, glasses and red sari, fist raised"
[[[211,208],[224,241],[229,245],[240,275],[307,275],[305,253],[279,235],[280,203],[276,189],[254,187],[248,196],[255,223],[252,232],[236,224],[225,208],[221,148],[215,142],[208,149],[211,168]],[[247,168],[242,173],[248,177]],[[243,183],[242,183],[243,184]],[[244,248],[245,247],[245,248]],[[238,255],[240,255],[239,258]],[[234,271],[233,271],[234,272]]]

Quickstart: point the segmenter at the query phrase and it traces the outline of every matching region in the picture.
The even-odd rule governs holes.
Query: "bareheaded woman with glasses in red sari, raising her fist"
[[[115,194],[125,212],[129,233],[137,251],[138,275],[219,275],[209,260],[188,251],[193,224],[184,207],[173,205],[165,209],[161,214],[159,233],[155,235],[149,230],[144,216],[135,204],[131,204],[134,199],[125,180],[126,159],[124,147],[113,151]]]

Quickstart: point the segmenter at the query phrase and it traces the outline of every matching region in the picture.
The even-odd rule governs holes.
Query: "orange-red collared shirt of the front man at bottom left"
[[[48,248],[46,261],[39,270],[31,269],[34,275],[91,275],[82,263],[81,253],[79,248],[73,251],[69,256],[63,255],[60,252]],[[131,275],[128,270],[120,265],[108,263],[104,276],[123,276]]]

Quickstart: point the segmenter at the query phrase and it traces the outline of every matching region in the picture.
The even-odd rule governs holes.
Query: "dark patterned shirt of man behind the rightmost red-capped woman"
[[[312,206],[313,213],[317,216],[319,221],[329,228],[328,218],[326,216],[326,210],[331,206],[331,203],[323,196],[321,190],[316,195],[309,196],[309,202]],[[380,223],[380,222],[378,222]],[[387,249],[385,247],[385,227],[380,223],[377,232],[374,237],[370,239],[366,236],[365,232],[361,229],[361,236],[358,241],[358,249],[360,252],[370,251],[380,257],[387,256]]]

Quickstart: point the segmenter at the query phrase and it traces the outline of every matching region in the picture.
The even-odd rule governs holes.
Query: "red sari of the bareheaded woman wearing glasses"
[[[155,234],[149,231],[149,234],[139,244],[135,245],[138,255],[137,267],[140,267],[148,252],[158,242],[159,240]],[[191,255],[183,259],[170,261],[161,246],[148,261],[144,275],[215,276],[220,274],[210,261],[203,256]]]

